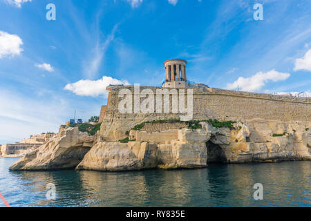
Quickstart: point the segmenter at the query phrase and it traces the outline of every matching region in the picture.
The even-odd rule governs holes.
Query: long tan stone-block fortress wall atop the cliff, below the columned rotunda
[[[101,128],[101,135],[104,140],[118,140],[120,137],[124,138],[126,137],[126,131],[129,131],[133,126],[140,124],[141,122],[153,119],[179,118],[180,115],[185,115],[171,113],[171,100],[169,114],[121,114],[118,111],[118,104],[124,98],[119,98],[118,94],[120,90],[124,88],[131,90],[133,94],[133,86],[113,86],[108,88],[108,90],[110,90],[109,103],[107,104]],[[153,91],[156,103],[156,89],[163,88],[141,86],[140,91],[143,89],[151,89]],[[281,122],[311,121],[311,98],[247,93],[216,88],[193,88],[193,92],[194,119],[215,118],[221,121],[245,121],[254,118],[263,118],[267,120],[278,120]],[[187,95],[185,95],[185,98],[185,103],[187,105]],[[140,103],[144,99],[145,98],[141,98]]]

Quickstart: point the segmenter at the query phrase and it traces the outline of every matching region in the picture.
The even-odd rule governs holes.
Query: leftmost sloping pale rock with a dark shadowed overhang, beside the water
[[[10,166],[10,170],[72,169],[81,162],[94,143],[94,136],[81,133],[78,128],[62,131],[37,150]]]

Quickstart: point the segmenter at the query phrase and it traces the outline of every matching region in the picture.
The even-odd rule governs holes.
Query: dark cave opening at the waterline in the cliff
[[[207,163],[225,163],[227,157],[225,151],[218,144],[214,144],[210,140],[206,142],[207,147]]]

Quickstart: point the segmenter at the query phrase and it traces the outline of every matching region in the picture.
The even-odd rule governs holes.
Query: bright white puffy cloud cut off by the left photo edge
[[[10,35],[7,32],[0,31],[0,58],[19,55],[23,49],[23,41],[18,35]]]

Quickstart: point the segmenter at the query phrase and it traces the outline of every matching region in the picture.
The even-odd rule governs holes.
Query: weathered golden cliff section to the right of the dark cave
[[[220,146],[225,151],[227,162],[310,160],[310,133],[305,130],[308,126],[310,122],[252,119],[232,130],[230,137],[227,137],[229,144]],[[283,136],[273,136],[283,133]]]

